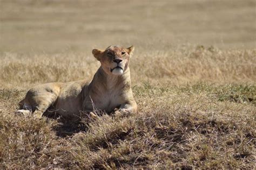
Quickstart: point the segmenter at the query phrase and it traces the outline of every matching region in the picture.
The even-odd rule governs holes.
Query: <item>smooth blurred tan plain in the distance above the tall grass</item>
[[[0,52],[84,52],[111,44],[255,48],[254,0],[0,1]]]

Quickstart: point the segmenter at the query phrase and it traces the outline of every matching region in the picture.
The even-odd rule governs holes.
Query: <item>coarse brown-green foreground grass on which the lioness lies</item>
[[[17,117],[14,106],[24,92],[1,91],[2,168],[253,168],[255,85],[133,89],[138,114],[104,115],[77,129]]]

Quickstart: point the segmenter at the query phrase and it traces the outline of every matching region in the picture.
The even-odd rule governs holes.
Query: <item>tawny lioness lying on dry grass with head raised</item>
[[[91,82],[46,83],[31,88],[24,100],[19,102],[16,113],[42,117],[54,110],[64,117],[80,116],[100,109],[118,114],[137,112],[134,101],[129,60],[134,47],[109,46],[104,51],[93,49],[92,54],[101,66]]]

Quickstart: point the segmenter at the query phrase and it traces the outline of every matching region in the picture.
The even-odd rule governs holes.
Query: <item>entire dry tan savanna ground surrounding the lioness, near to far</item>
[[[0,168],[254,168],[255,1],[0,1]],[[26,90],[91,80],[130,46],[138,114],[16,116]]]

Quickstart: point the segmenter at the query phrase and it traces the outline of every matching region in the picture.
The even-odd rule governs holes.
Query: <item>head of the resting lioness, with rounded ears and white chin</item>
[[[129,66],[134,47],[109,46],[104,51],[93,49],[92,54],[107,74],[122,75]]]

